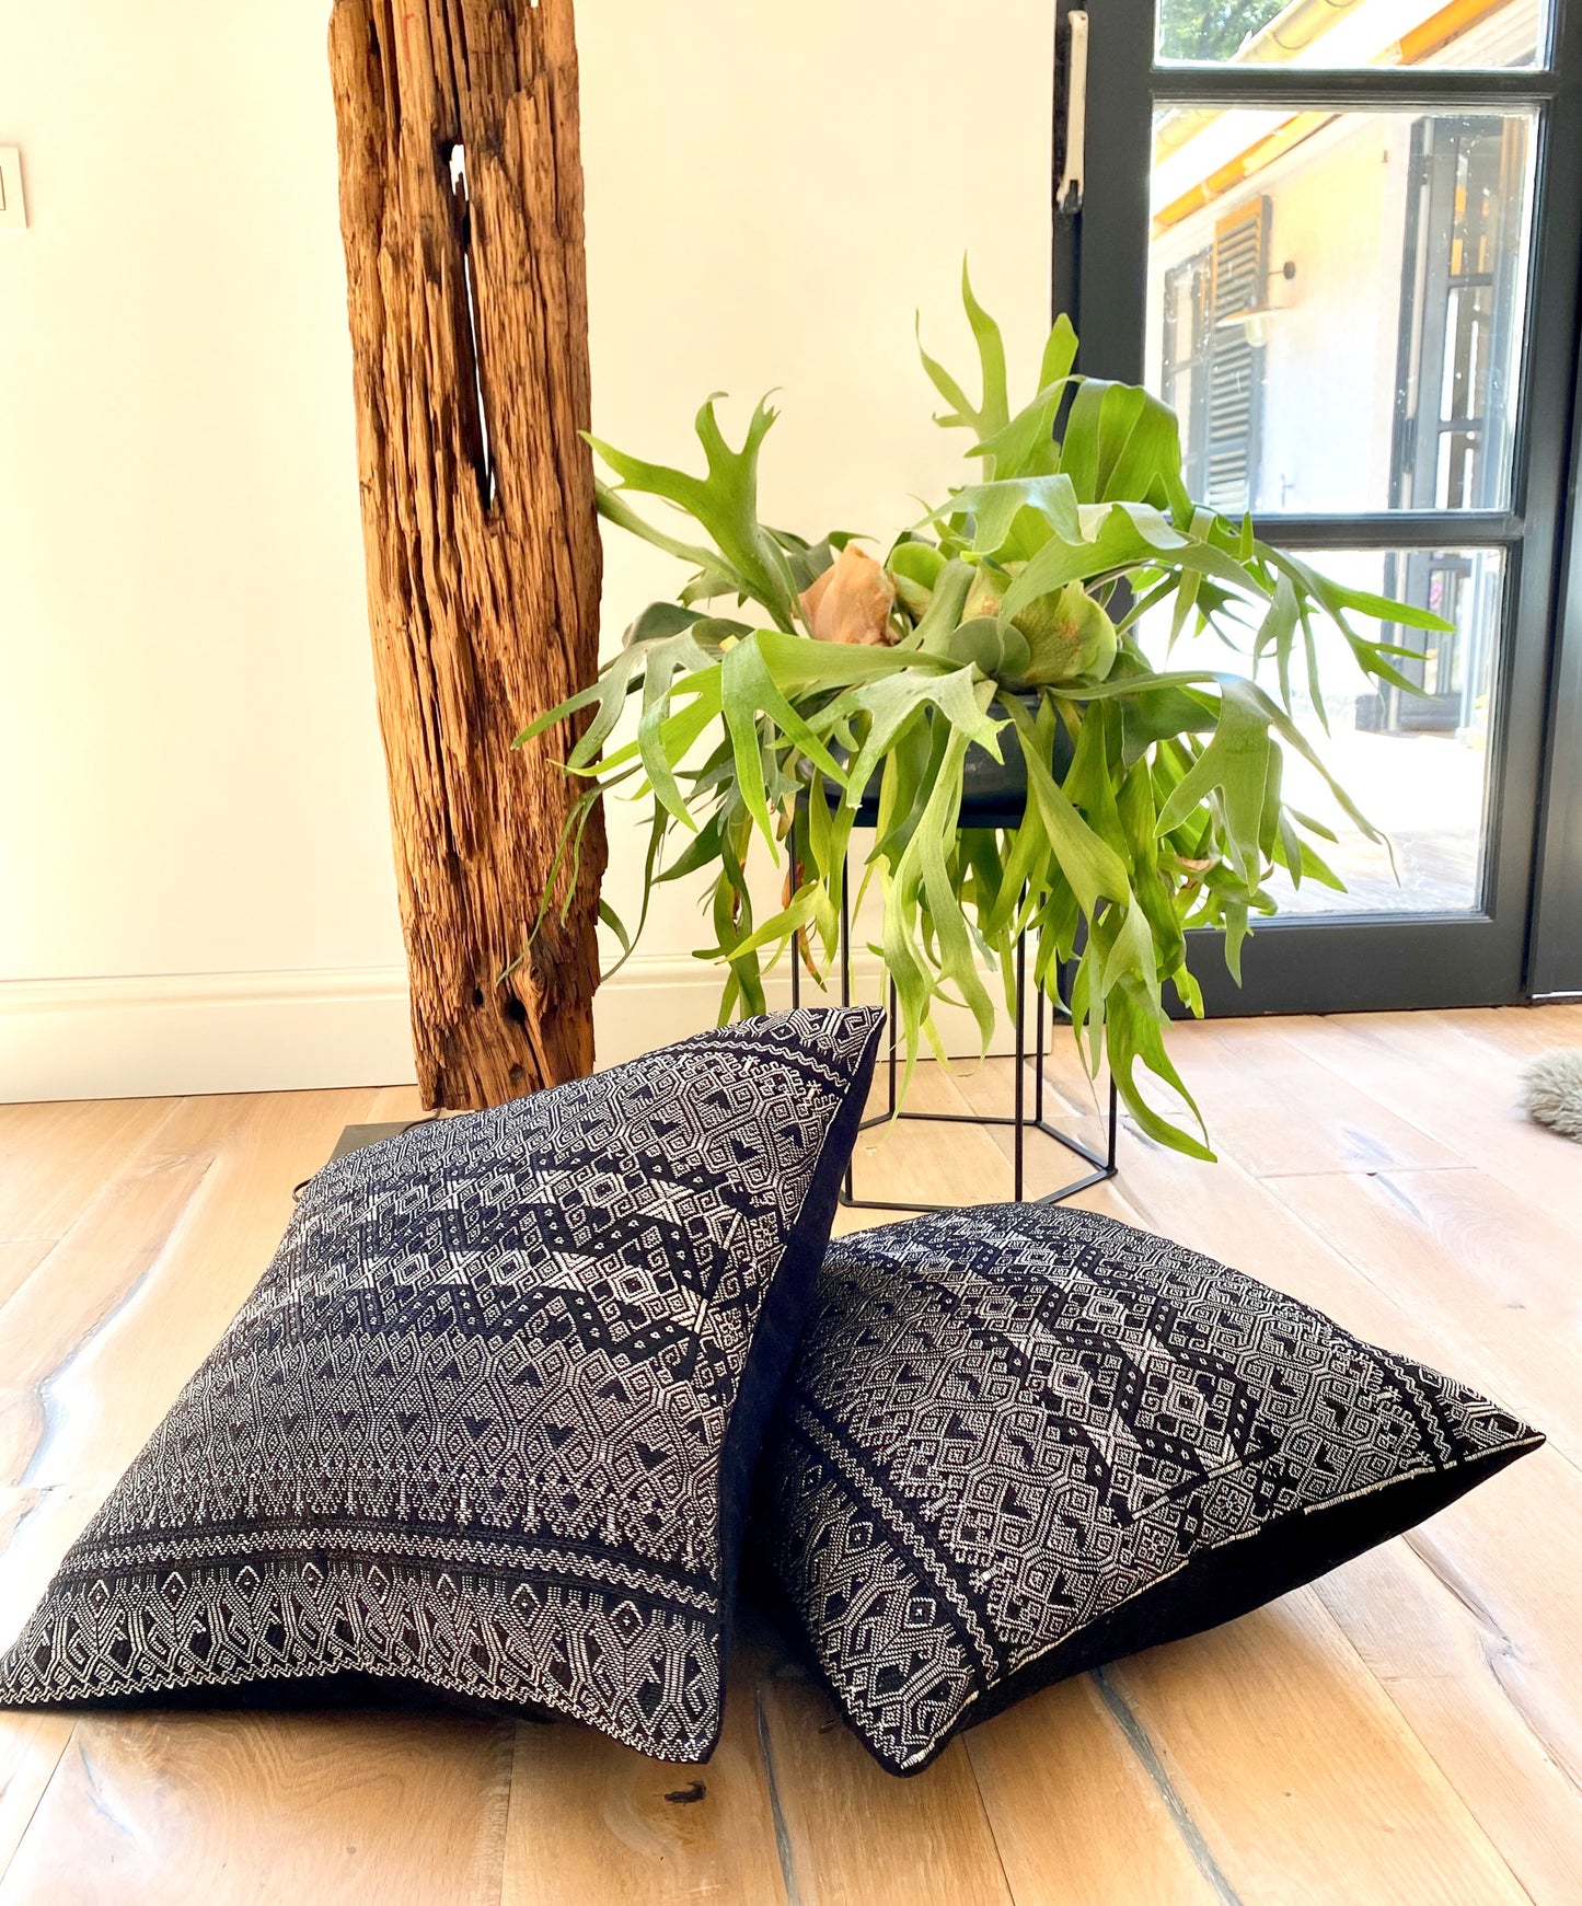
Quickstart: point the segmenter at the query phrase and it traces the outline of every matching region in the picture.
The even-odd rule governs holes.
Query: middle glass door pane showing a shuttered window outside
[[[1199,501],[1508,507],[1534,133],[1527,111],[1159,114],[1147,383]]]

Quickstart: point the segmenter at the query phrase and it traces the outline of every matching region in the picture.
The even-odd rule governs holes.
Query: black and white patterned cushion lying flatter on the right
[[[831,1247],[755,1550],[892,1773],[1281,1595],[1542,1437],[1163,1237],[985,1205]]]

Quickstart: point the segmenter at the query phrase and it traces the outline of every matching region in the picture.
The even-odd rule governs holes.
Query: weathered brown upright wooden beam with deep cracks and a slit
[[[330,71],[417,1083],[488,1105],[593,1065],[597,810],[499,980],[578,793],[511,741],[598,663],[572,0],[335,0]]]

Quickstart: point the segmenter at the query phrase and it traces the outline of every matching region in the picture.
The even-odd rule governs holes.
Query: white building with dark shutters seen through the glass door
[[[1540,55],[1536,0],[1165,0],[1159,15],[1166,61],[1506,69]],[[1147,375],[1180,417],[1195,497],[1264,518],[1511,505],[1534,149],[1525,107],[1157,112]],[[1355,757],[1342,780],[1372,793],[1395,837],[1403,884],[1388,856],[1344,837],[1353,892],[1304,888],[1296,903],[1471,907],[1504,562],[1447,547],[1327,551],[1325,566],[1454,633],[1388,633],[1422,650],[1401,663],[1420,694],[1359,682],[1323,711]],[[1443,745],[1389,745],[1410,740]]]

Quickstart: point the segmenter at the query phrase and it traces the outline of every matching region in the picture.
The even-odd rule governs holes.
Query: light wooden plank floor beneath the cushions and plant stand
[[[1513,1111],[1557,1044],[1582,1046],[1582,1006],[1184,1027],[1224,1163],[1126,1132],[1083,1197],[1550,1433],[1410,1536],[1048,1689],[915,1780],[751,1622],[700,1769],[442,1713],[6,1713],[0,1906],[1578,1906],[1582,1146]],[[1065,1050],[1050,1081],[1075,1117]],[[1008,1062],[924,1067],[917,1102],[1008,1088]],[[292,1186],[343,1125],[410,1105],[0,1107],[0,1635],[225,1328]],[[860,1172],[871,1195],[1008,1195],[974,1126],[869,1132]]]

